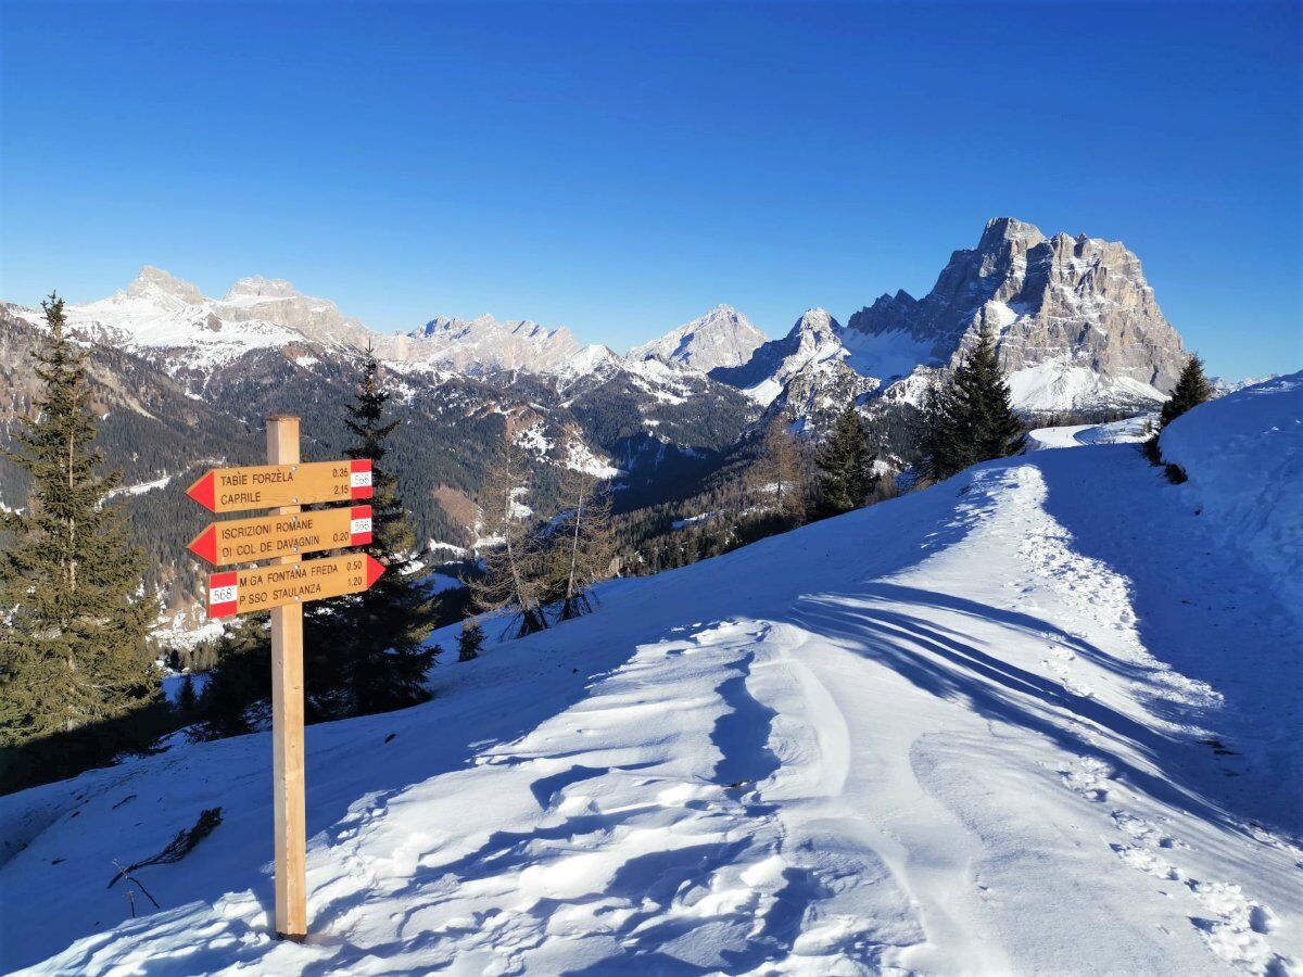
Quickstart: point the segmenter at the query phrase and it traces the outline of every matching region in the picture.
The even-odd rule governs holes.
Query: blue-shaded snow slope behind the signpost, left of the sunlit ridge
[[[324,832],[332,845],[351,826],[356,827],[358,813],[383,808],[409,787],[465,769],[483,750],[525,736],[581,700],[594,681],[619,668],[637,650],[632,642],[592,642],[582,654],[573,654],[563,630],[491,649],[473,666],[453,663],[437,668],[431,676],[437,684],[453,668],[476,668],[477,677],[446,696],[437,690],[430,702],[309,727],[309,869],[314,836]],[[542,694],[542,688],[549,694]],[[91,771],[66,782],[66,788],[64,784],[38,788],[66,795],[48,814],[46,831],[57,830],[60,822],[68,827],[93,825],[95,831],[77,838],[76,851],[60,845],[53,852],[60,862],[56,868],[33,860],[23,869],[20,865],[23,856],[33,857],[35,851],[20,852],[5,866],[0,875],[4,917],[0,970],[30,965],[82,937],[119,925],[143,933],[169,912],[184,916],[188,904],[212,905],[222,896],[244,891],[262,907],[261,924],[248,925],[245,914],[228,917],[223,939],[231,935],[235,939],[219,956],[224,965],[258,957],[259,937],[275,929],[271,787],[271,736],[251,733]],[[89,909],[82,898],[82,879],[102,888],[115,871],[115,858],[129,864],[155,853],[171,832],[192,825],[201,808],[216,805],[223,808],[223,823],[184,862],[139,873],[162,911],[130,920],[124,887],[119,886],[106,890],[93,904],[94,916],[85,914]],[[160,817],[159,812],[165,814]],[[164,834],[158,836],[154,831]],[[44,842],[39,834],[33,839],[34,845]],[[29,885],[39,883],[44,891],[50,885],[47,873],[64,870],[68,878],[78,879],[77,886],[69,887],[73,892],[69,912],[60,913],[56,904],[59,886],[51,892],[55,903],[44,899],[36,907],[18,898]],[[96,881],[102,875],[103,881]],[[42,925],[51,914],[61,916],[59,927]],[[321,916],[310,907],[314,930]],[[139,972],[193,973],[197,961],[205,959],[202,943],[192,946],[185,960],[164,955],[142,961]],[[91,957],[96,946],[86,947],[81,965],[74,967],[77,972],[94,969]]]

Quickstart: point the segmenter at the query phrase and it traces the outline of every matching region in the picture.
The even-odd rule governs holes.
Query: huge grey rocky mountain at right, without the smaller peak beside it
[[[847,336],[866,361],[876,345],[913,343],[921,363],[954,366],[984,324],[1028,410],[1156,403],[1184,363],[1132,251],[1085,234],[1046,237],[1012,218],[955,251],[924,298],[882,296],[851,317]]]

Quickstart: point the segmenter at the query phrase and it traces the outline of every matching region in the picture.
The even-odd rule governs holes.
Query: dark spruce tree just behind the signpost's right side
[[[362,594],[330,602],[306,621],[309,654],[308,693],[321,718],[364,715],[403,709],[430,697],[425,675],[438,654],[425,640],[434,627],[435,602],[418,578],[412,552],[414,535],[397,491],[397,479],[386,465],[390,436],[399,421],[390,421],[390,400],[380,365],[371,349],[362,361],[356,400],[345,423],[353,443],[351,459],[371,462],[371,531],[366,551],[384,564],[384,576]]]

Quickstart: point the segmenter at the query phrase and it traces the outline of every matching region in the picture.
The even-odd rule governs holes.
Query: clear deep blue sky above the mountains
[[[1303,366],[1299,7],[0,0],[0,296],[141,264],[618,349],[925,293],[988,218],[1136,250],[1214,373]]]

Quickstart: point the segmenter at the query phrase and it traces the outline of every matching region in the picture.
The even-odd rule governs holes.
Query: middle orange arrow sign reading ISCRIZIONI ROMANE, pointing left
[[[215,567],[224,567],[370,543],[371,507],[341,505],[293,516],[210,522],[190,541],[189,550]]]

